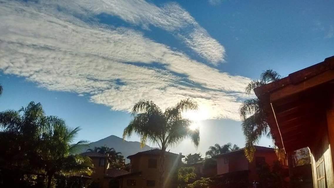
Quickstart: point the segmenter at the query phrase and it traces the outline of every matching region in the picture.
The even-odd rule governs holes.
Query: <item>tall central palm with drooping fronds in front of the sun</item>
[[[147,142],[157,144],[160,154],[160,187],[164,187],[165,152],[167,147],[175,146],[184,139],[191,139],[195,147],[199,145],[199,129],[192,130],[192,122],[184,119],[182,113],[187,110],[197,110],[197,103],[181,100],[174,107],[162,110],[152,101],[141,100],[132,109],[132,120],[124,129],[123,139],[136,133],[140,137],[141,147]]]

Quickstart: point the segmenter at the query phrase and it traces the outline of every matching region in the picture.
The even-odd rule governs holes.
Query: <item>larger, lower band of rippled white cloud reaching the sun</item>
[[[210,111],[207,119],[239,120],[239,99],[246,97],[243,89],[249,78],[219,72],[132,29],[97,28],[17,2],[3,5],[0,69],[4,73],[24,76],[50,90],[90,93],[92,102],[113,110],[129,112],[139,99],[166,108],[192,97],[201,109]],[[167,70],[126,62],[159,62]],[[209,89],[182,85],[184,78],[170,71]],[[126,85],[117,85],[116,79]]]

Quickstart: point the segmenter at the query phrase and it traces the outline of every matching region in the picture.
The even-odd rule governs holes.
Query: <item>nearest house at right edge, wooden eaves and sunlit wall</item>
[[[314,187],[333,188],[334,56],[254,91],[276,145],[288,155],[308,147]]]

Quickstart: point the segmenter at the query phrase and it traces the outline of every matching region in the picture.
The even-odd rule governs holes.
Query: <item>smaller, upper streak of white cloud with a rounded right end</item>
[[[85,10],[89,10],[92,14],[107,13],[118,16],[145,29],[153,25],[172,32],[211,64],[217,65],[224,60],[224,47],[176,3],[166,3],[161,7],[144,0],[65,0],[51,3],[64,7],[71,13],[84,14]]]

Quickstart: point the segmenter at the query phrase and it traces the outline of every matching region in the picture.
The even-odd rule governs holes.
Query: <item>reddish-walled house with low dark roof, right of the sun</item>
[[[251,163],[245,157],[245,148],[213,156],[213,158],[217,159],[217,176],[222,177],[229,174],[241,176],[242,174],[243,178],[248,179],[248,182],[259,181],[257,170],[264,163],[272,166],[274,161],[278,161],[278,158],[273,148],[262,146],[255,146],[255,148],[254,160]],[[281,164],[287,166],[287,161],[283,160]]]

